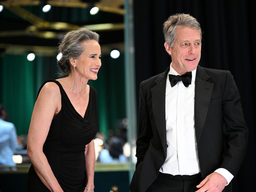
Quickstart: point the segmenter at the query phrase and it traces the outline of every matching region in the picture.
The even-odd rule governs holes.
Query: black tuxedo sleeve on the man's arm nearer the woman
[[[147,104],[145,100],[145,93],[143,93],[143,82],[140,84],[140,101],[139,101],[139,109],[138,109],[138,129],[139,129],[139,137],[136,141],[136,157],[137,163],[140,164],[143,161],[144,155],[148,150],[150,140],[152,138],[152,129],[150,123],[150,117],[147,109]]]

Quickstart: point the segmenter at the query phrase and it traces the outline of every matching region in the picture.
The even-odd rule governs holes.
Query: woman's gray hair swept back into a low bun
[[[86,28],[79,28],[78,30],[69,31],[62,39],[59,45],[59,53],[62,54],[61,59],[58,61],[58,66],[61,70],[61,76],[68,76],[70,73],[69,58],[78,59],[84,47],[82,43],[86,40],[95,40],[99,42],[100,35],[94,31]]]

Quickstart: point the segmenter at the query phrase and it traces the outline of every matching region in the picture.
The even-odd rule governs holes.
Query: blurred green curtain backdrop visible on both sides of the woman
[[[56,57],[38,57],[28,61],[27,55],[0,57],[0,102],[6,107],[17,134],[27,134],[37,91],[47,79],[58,79]],[[98,79],[88,84],[98,91],[99,131],[106,139],[108,129],[125,118],[124,56],[103,56]]]

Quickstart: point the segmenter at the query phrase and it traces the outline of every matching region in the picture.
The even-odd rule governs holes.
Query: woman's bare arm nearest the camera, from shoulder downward
[[[54,82],[46,83],[37,98],[28,131],[27,155],[42,183],[52,192],[61,191],[56,177],[43,153],[51,121],[61,108],[59,87]]]

